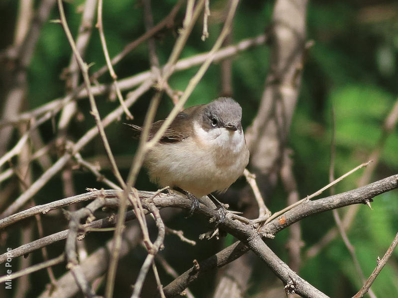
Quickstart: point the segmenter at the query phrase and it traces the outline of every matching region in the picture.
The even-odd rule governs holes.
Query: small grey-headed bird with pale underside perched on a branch
[[[229,97],[180,112],[145,156],[150,180],[161,187],[183,190],[192,200],[190,194],[200,198],[226,191],[249,162],[241,118],[242,108]],[[151,125],[149,140],[163,122]],[[142,131],[139,126],[130,126]]]

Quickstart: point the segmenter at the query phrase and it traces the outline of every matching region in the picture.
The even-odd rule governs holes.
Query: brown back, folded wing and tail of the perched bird
[[[195,110],[199,109],[202,105],[193,106],[185,109],[184,111],[178,113],[176,118],[170,124],[170,127],[163,133],[160,143],[178,143],[190,136],[190,131],[193,125],[193,116],[196,114]],[[149,130],[149,140],[151,140],[165,120],[156,121],[151,125]],[[140,137],[142,132],[142,127],[128,124],[135,132],[137,132],[135,137]]]

